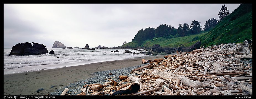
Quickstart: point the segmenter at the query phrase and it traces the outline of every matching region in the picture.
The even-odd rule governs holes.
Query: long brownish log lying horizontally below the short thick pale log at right
[[[207,74],[210,75],[216,75],[216,76],[221,76],[221,75],[248,75],[247,72],[244,71],[234,71],[234,70],[223,70],[223,71],[211,71],[211,72],[206,72]]]

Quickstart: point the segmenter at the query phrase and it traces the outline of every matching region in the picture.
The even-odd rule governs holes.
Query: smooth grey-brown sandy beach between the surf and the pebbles
[[[4,95],[46,95],[75,81],[92,77],[97,71],[140,65],[141,60],[163,58],[165,55],[107,61],[58,69],[4,75]],[[55,86],[51,88],[51,86]],[[45,90],[37,93],[39,88]]]

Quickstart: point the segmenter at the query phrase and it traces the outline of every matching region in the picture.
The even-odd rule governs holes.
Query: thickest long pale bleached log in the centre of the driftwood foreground
[[[180,79],[182,81],[182,84],[184,84],[185,86],[186,85],[187,86],[192,86],[193,88],[203,87],[202,82],[187,79],[186,77],[184,77],[184,75],[177,75],[177,74],[170,73],[170,72],[160,72],[158,70],[154,70],[152,72],[152,75],[156,76],[156,77],[160,77],[160,78],[165,79],[165,80]]]

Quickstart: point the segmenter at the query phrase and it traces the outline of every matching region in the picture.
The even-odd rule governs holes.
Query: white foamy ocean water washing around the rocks
[[[4,48],[4,75],[151,56],[143,54],[133,55],[132,53],[138,52],[137,50],[133,50],[132,53],[124,53],[127,49],[47,49],[48,53],[50,50],[53,50],[54,54],[8,56],[12,49]],[[115,50],[119,52],[111,52]],[[131,51],[130,49],[128,50],[129,52]]]

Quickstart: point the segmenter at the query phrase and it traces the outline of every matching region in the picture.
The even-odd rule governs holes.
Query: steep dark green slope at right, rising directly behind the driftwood
[[[242,4],[204,35],[202,46],[240,43],[252,39],[252,4]]]

